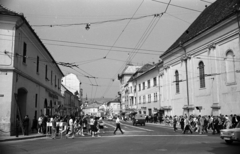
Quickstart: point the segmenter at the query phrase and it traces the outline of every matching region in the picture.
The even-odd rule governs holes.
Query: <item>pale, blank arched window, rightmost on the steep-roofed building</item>
[[[230,50],[226,54],[226,79],[227,83],[235,82],[235,65],[234,65],[234,53]]]

